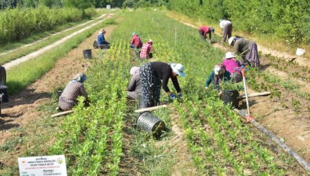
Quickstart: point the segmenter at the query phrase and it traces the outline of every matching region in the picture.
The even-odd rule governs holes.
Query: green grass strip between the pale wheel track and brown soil
[[[8,70],[7,86],[9,88],[9,94],[12,95],[26,88],[30,83],[37,80],[41,75],[50,70],[57,59],[65,56],[68,51],[78,46],[85,38],[92,35],[96,30],[99,30],[99,28],[105,26],[105,23],[111,23],[111,21],[113,21],[113,19],[99,23],[89,30],[76,35],[76,37],[68,39],[68,41],[65,41],[65,43],[61,44],[54,50],[45,52],[44,55],[41,55],[36,59],[30,59],[29,61],[23,62]]]

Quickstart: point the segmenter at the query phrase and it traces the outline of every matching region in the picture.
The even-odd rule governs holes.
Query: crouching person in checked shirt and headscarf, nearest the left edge
[[[87,92],[83,86],[86,80],[86,75],[83,73],[77,74],[65,87],[63,93],[59,97],[59,108],[61,110],[71,110],[78,103],[77,97],[83,96],[88,102]]]

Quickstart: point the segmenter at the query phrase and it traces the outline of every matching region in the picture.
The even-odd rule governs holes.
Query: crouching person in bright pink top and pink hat
[[[225,60],[223,61],[223,66],[229,72],[232,82],[240,82],[242,80],[242,75],[240,69],[240,63],[236,60],[236,56],[232,52],[226,52]]]

